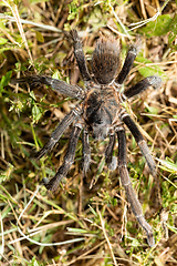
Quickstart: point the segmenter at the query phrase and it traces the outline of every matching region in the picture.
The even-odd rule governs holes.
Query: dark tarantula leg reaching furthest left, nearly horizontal
[[[41,84],[45,84],[70,98],[82,100],[85,96],[84,90],[80,86],[71,85],[64,81],[45,75],[28,75],[17,80],[13,79],[12,83],[28,83],[30,86],[40,86]]]

